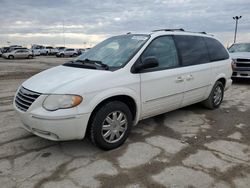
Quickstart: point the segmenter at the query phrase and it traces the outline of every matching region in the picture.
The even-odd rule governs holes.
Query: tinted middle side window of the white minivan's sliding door
[[[182,65],[196,65],[209,62],[205,41],[199,36],[175,35]]]

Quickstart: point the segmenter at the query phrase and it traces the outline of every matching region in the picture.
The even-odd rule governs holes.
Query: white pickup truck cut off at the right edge
[[[229,53],[234,61],[232,78],[250,78],[250,43],[235,43]]]

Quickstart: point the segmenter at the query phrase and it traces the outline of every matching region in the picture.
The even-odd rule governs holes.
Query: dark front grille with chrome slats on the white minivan
[[[31,104],[41,95],[34,91],[30,91],[21,87],[16,95],[15,104],[20,110],[26,112]]]

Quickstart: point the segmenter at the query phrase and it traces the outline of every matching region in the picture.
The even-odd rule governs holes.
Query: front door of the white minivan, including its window
[[[154,39],[140,58],[155,57],[159,66],[147,69],[141,76],[142,117],[147,118],[179,108],[185,80],[172,36]]]

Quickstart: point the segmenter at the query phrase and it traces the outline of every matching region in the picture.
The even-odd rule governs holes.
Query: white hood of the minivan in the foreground
[[[22,86],[38,93],[52,93],[57,88],[75,80],[95,77],[100,74],[105,74],[105,72],[107,71],[60,65],[32,76],[26,80]]]

